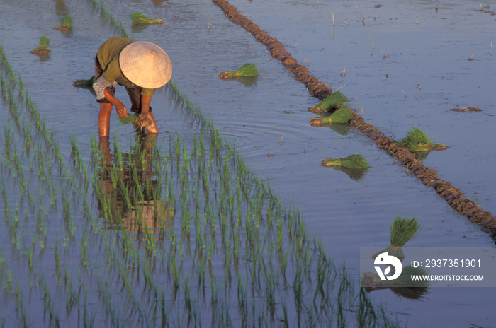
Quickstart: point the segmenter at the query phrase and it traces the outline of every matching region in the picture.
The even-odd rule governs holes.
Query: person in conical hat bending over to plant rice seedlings
[[[120,100],[115,98],[115,85],[125,86],[132,106],[131,111],[140,113],[140,127],[158,133],[152,115],[150,101],[156,88],[171,79],[172,65],[167,54],[150,42],[133,42],[126,37],[112,37],[98,47],[95,57],[95,83],[98,115],[98,134],[108,136],[112,106],[120,117],[128,112]]]

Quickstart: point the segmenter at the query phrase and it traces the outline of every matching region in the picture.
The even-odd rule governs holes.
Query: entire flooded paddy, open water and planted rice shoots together
[[[417,126],[449,145],[426,165],[496,212],[496,22],[478,2],[232,4],[384,134]],[[213,3],[4,0],[0,11],[11,18],[0,20],[5,327],[492,324],[490,289],[361,291],[359,247],[387,246],[395,216],[419,218],[409,246],[493,242],[361,132],[311,127],[318,100]],[[165,23],[133,28],[133,11]],[[72,30],[52,30],[67,13]],[[152,100],[156,138],[113,117],[99,141],[98,104],[72,87],[119,23],[173,63],[175,84]],[[42,35],[52,52],[30,54]],[[261,75],[218,78],[246,61]],[[470,105],[483,111],[449,111]],[[354,152],[372,165],[360,180],[320,166]]]

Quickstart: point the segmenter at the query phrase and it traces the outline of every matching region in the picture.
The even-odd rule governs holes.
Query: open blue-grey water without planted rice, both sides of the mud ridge
[[[3,15],[13,17],[22,11],[31,19],[29,25],[1,20],[0,40],[47,125],[54,124],[61,139],[77,131],[84,143],[96,134],[98,106],[88,90],[71,85],[94,74],[96,48],[116,32],[85,1],[65,4],[74,16],[73,31],[67,34],[52,30],[61,19],[54,2],[33,7],[28,1],[3,1]],[[317,100],[308,97],[305,86],[271,59],[263,45],[227,21],[210,2],[105,4],[135,40],[155,42],[166,50],[179,88],[213,117],[227,139],[235,141],[252,170],[269,180],[286,203],[300,209],[310,231],[322,236],[336,262],[346,260],[358,272],[359,247],[388,245],[390,222],[396,215],[416,216],[422,224],[410,246],[492,245],[477,225],[454,213],[433,189],[424,187],[359,132],[310,127],[312,114],[306,110]],[[437,12],[430,2],[390,1],[380,8],[368,1],[233,4],[286,44],[300,64],[308,63],[322,82],[343,86],[340,90],[354,99],[352,105],[363,107],[365,120],[386,135],[400,139],[417,125],[432,141],[451,146],[429,154],[429,167],[468,197],[484,201],[485,210],[496,212],[491,209],[496,195],[490,170],[496,155],[490,143],[494,123],[490,115],[496,114],[490,47],[491,42],[496,45],[495,21],[475,11],[478,3],[439,4]],[[132,30],[133,11],[165,23]],[[29,54],[40,35],[52,40],[53,52],[46,61]],[[475,60],[468,61],[472,55]],[[261,76],[253,83],[218,78],[218,72],[237,69],[246,61],[260,67]],[[123,88],[118,95],[126,99]],[[174,110],[165,90],[157,92],[152,105],[161,129],[159,142],[165,144],[169,134],[179,129],[187,131],[187,118]],[[447,112],[470,105],[483,112]],[[129,139],[129,129],[115,123],[113,133]],[[69,153],[68,143],[62,148]],[[324,158],[354,152],[363,153],[372,165],[360,181],[320,166]],[[373,293],[377,303],[387,303],[393,315],[413,327],[468,327],[469,322],[484,325],[492,319],[492,291],[437,288],[427,299],[415,302],[389,291]]]

